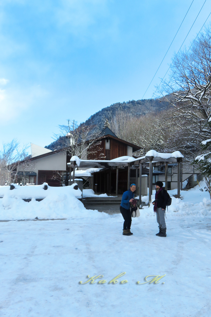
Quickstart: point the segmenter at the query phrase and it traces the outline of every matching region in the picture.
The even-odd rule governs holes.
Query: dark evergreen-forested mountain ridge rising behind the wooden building
[[[119,111],[127,113],[130,117],[139,118],[140,116],[144,116],[148,113],[160,112],[169,107],[170,103],[168,101],[164,101],[163,98],[129,100],[122,103],[117,102],[91,115],[84,123],[86,126],[91,126],[93,132],[101,132],[103,130],[105,120],[108,119],[108,121],[110,121]],[[63,138],[63,136],[60,136],[59,139],[45,147],[50,150],[56,150],[62,147]]]

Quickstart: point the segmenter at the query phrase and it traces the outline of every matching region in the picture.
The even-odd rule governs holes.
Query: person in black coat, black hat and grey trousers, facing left
[[[157,216],[157,223],[159,232],[156,236],[166,237],[166,224],[165,224],[165,210],[168,200],[167,191],[163,187],[163,183],[158,181],[155,183],[156,194],[155,200],[152,202],[154,205],[154,212]]]

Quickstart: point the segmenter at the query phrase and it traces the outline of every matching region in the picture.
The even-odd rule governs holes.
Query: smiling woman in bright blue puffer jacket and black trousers
[[[130,189],[125,191],[122,195],[121,205],[120,205],[120,212],[122,217],[124,218],[123,224],[123,235],[124,236],[131,236],[133,233],[130,232],[130,226],[132,222],[131,212],[130,212],[130,203],[132,203],[134,198],[134,191],[136,190],[136,184],[131,184]]]

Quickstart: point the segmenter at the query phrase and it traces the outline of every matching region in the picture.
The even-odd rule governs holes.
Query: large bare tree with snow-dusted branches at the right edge
[[[163,89],[168,93],[164,99],[172,105],[167,116],[168,144],[179,136],[186,154],[200,151],[202,140],[211,133],[211,29],[175,57],[171,79],[165,81]]]

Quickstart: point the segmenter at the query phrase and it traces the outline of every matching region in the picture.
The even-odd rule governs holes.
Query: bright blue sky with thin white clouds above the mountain
[[[0,147],[50,144],[83,122],[141,99],[192,0],[1,0]],[[194,0],[144,98],[151,98],[204,0]],[[211,11],[207,0],[183,48]],[[209,17],[206,25],[210,23]]]

